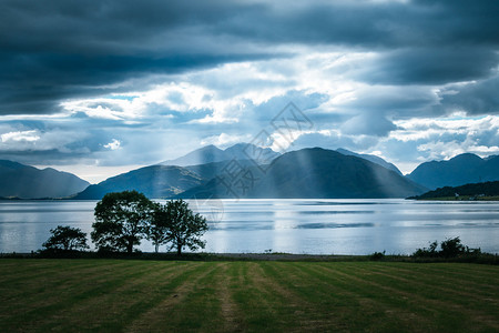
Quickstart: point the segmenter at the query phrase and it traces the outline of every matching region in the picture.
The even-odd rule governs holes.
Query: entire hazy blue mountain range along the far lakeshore
[[[426,162],[404,176],[391,163],[338,149],[284,154],[238,143],[207,145],[175,160],[90,185],[53,169],[0,161],[0,198],[99,200],[138,190],[149,198],[406,198],[446,185],[499,180],[499,157],[461,154]]]

